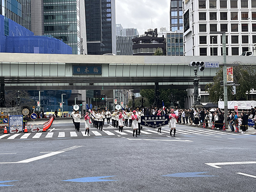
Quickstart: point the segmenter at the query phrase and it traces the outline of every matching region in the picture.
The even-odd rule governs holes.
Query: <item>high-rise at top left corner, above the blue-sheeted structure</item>
[[[1,0],[0,14],[31,30],[30,0]]]

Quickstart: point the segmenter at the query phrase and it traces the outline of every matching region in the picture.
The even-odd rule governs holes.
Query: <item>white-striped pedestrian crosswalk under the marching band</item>
[[[162,128],[161,133],[158,133],[156,129],[145,129],[141,130],[141,135],[146,136],[160,136],[160,135],[169,135],[170,129],[168,128]],[[57,129],[54,130],[54,132],[37,132],[37,133],[13,133],[13,134],[3,134],[0,135],[0,140],[8,139],[41,139],[41,138],[73,138],[73,137],[104,137],[104,136],[128,136],[133,134],[132,129],[123,129],[123,131],[109,129],[109,130],[97,130],[93,129],[90,130],[90,134],[85,134],[85,131],[58,131]],[[238,135],[239,133],[233,133],[228,131],[218,131],[218,130],[212,130],[212,129],[187,129],[187,128],[177,128],[176,135],[177,136],[199,136],[199,135]]]

